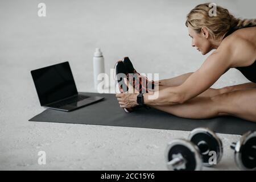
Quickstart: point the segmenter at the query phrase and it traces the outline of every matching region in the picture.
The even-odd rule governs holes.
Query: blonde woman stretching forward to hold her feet
[[[233,115],[256,121],[256,19],[237,19],[217,6],[210,17],[208,3],[196,6],[185,25],[195,47],[203,55],[216,49],[201,67],[167,80],[160,80],[158,98],[144,93],[117,94],[120,107],[147,105],[184,118]],[[238,69],[250,82],[221,89],[210,88],[228,69]],[[142,102],[142,103],[138,103]]]

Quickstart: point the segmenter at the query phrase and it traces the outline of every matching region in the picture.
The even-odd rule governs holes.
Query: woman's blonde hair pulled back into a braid
[[[246,27],[256,26],[256,19],[235,18],[227,9],[217,6],[217,16],[209,16],[209,3],[197,5],[187,15],[185,25],[193,28],[197,33],[205,27],[213,39],[223,39],[232,32]]]

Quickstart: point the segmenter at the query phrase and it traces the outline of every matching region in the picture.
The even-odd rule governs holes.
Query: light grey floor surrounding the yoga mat
[[[168,78],[195,71],[206,56],[191,47],[185,15],[204,1],[0,1],[0,169],[166,170],[164,150],[186,131],[28,122],[40,107],[30,71],[68,60],[77,88],[94,92],[92,57],[105,56],[106,73],[123,56],[139,72]],[[215,1],[234,15],[255,18],[254,1]],[[230,70],[215,88],[247,82]],[[231,142],[218,134],[224,157],[214,170],[236,170]],[[38,164],[46,151],[47,164]]]

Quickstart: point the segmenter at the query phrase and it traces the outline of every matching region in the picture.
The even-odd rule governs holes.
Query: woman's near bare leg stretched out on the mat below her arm
[[[234,115],[256,122],[256,89],[236,90],[213,97],[197,96],[184,104],[152,106],[178,117],[203,119]]]

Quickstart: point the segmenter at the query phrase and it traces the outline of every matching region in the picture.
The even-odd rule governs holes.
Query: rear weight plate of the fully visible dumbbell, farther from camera
[[[213,156],[209,154],[210,151],[216,152],[216,163],[220,162],[223,154],[222,142],[213,131],[200,127],[192,130],[188,139],[199,147],[204,166],[213,166],[209,163],[209,159]]]

